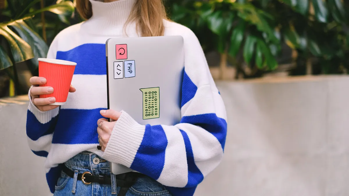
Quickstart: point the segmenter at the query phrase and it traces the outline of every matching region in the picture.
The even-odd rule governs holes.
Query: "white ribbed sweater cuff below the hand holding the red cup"
[[[30,87],[30,89],[33,86]],[[40,122],[40,123],[47,123],[49,122],[53,117],[58,115],[59,112],[59,107],[54,108],[53,110],[49,110],[46,112],[40,111],[32,102],[31,100],[31,96],[30,96],[30,89],[28,92],[28,96],[29,96],[29,106],[28,106],[28,110],[33,113],[36,117],[36,119]]]

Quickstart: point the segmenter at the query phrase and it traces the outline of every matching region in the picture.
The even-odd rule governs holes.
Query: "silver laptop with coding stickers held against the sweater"
[[[183,37],[111,38],[106,61],[108,109],[124,110],[141,125],[180,122]],[[132,169],[112,163],[111,171]]]

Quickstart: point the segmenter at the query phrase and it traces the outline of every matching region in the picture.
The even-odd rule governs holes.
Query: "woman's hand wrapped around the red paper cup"
[[[54,97],[39,98],[39,95],[48,95],[53,92],[51,86],[38,86],[39,84],[46,84],[46,78],[34,76],[30,78],[29,82],[33,85],[30,89],[31,101],[40,111],[45,112],[59,107],[59,105],[49,105],[56,102]],[[70,85],[69,92],[75,91],[74,86]]]

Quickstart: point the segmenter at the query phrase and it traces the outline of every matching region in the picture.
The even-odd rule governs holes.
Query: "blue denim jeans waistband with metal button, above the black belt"
[[[81,152],[65,162],[65,165],[74,170],[96,171],[107,170],[110,172],[109,161],[102,159],[92,152]],[[104,173],[104,172],[103,172]]]

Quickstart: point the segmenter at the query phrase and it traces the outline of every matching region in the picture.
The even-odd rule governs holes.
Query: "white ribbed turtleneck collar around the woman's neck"
[[[101,35],[116,35],[131,13],[135,0],[117,0],[103,2],[90,0],[92,17],[83,26],[89,33]]]

